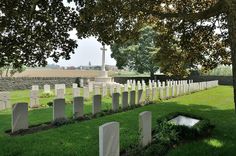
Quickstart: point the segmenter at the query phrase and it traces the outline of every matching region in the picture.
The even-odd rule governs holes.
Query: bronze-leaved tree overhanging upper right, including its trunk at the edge
[[[167,27],[170,26],[168,27],[170,32],[179,36],[181,51],[194,50],[191,59],[186,60],[189,64],[195,64],[194,61],[191,63],[191,60],[196,57],[200,58],[198,63],[209,69],[218,64],[232,63],[236,106],[236,0],[75,0],[75,2],[80,12],[77,25],[79,36],[94,35],[98,40],[110,44],[116,40],[137,36],[137,25],[141,20],[163,20],[167,23]],[[89,28],[83,31],[85,29],[81,27],[82,25]],[[220,30],[218,35],[215,34],[216,29]],[[227,51],[227,47],[230,50]]]

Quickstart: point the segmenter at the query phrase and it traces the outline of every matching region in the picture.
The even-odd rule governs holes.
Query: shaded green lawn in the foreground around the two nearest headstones
[[[187,112],[207,118],[216,127],[212,137],[190,142],[171,150],[168,155],[234,155],[236,148],[236,115],[233,109],[222,110],[208,104],[181,104],[165,101],[147,105],[131,111],[110,116],[99,117],[90,121],[65,125],[57,129],[10,138],[1,136],[0,155],[98,155],[98,127],[104,123],[120,122],[121,150],[127,149],[137,141],[138,115],[143,111],[151,111],[153,125],[157,118],[171,112]],[[34,116],[32,114],[32,116]],[[34,116],[36,118],[36,116]],[[2,120],[9,120],[2,124]],[[8,127],[10,115],[0,114],[1,129]],[[8,125],[8,126],[6,126]],[[8,127],[9,128],[9,127]],[[2,134],[3,132],[1,132]],[[37,140],[37,141],[36,141]],[[40,146],[39,146],[40,145]],[[86,146],[85,146],[86,145]],[[27,148],[25,148],[27,147]],[[9,149],[12,149],[9,152]],[[43,150],[42,150],[43,149]],[[6,153],[5,153],[6,152]]]

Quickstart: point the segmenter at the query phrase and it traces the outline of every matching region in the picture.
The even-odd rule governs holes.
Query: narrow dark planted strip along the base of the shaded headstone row
[[[151,104],[154,104],[154,103],[146,103],[144,106],[151,105]],[[37,125],[30,125],[28,129],[19,130],[19,131],[13,132],[13,133],[9,129],[9,130],[6,130],[5,133],[9,134],[10,136],[23,136],[23,135],[27,135],[27,134],[37,133],[40,131],[45,131],[45,130],[52,129],[52,128],[58,128],[63,125],[74,124],[77,122],[92,120],[95,118],[99,118],[99,117],[103,117],[103,116],[107,116],[107,115],[112,115],[115,113],[129,111],[129,110],[133,110],[133,109],[139,108],[139,107],[143,107],[143,105],[137,104],[137,105],[129,106],[127,108],[119,107],[119,109],[117,111],[103,110],[103,111],[96,113],[96,114],[92,114],[92,113],[84,114],[84,116],[78,117],[78,118],[74,118],[74,117],[70,117],[67,119],[63,118],[63,119],[52,121],[52,122],[44,122],[44,123],[37,124]]]

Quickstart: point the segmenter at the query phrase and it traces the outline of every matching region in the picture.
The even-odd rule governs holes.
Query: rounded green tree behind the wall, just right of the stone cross
[[[151,26],[139,30],[137,40],[128,40],[125,43],[114,43],[111,46],[111,56],[117,61],[118,68],[128,66],[139,73],[149,72],[151,78],[159,69],[154,60],[158,48],[155,47],[156,32]]]

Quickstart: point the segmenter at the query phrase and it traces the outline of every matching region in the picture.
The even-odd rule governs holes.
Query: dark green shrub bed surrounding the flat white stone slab
[[[171,119],[178,116],[186,116],[200,120],[192,127],[175,125]],[[131,145],[128,149],[121,151],[121,156],[162,156],[176,148],[179,144],[188,143],[192,140],[209,137],[214,125],[208,119],[182,112],[170,113],[157,119],[152,131],[152,143],[142,148],[138,143]],[[139,141],[137,141],[139,142]]]

